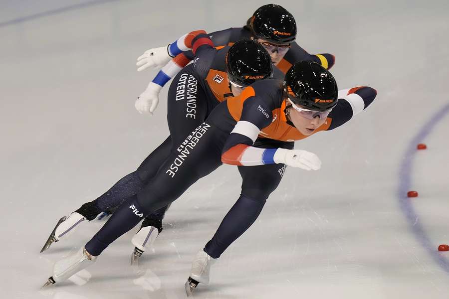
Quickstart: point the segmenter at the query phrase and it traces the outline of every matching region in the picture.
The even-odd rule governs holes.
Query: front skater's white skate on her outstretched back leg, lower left
[[[84,247],[81,248],[75,254],[57,261],[54,264],[53,275],[48,278],[42,288],[65,281],[75,273],[95,263],[96,260],[97,257],[90,255]]]

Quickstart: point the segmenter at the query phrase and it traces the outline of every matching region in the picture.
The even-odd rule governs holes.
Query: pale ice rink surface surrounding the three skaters
[[[278,1],[298,43],[336,55],[341,89],[375,102],[345,126],[297,142],[317,172],[288,168],[257,222],[212,269],[196,298],[446,298],[449,292],[449,2]],[[185,298],[190,265],[239,195],[222,166],[168,211],[139,268],[135,230],[91,268],[47,291],[53,262],[103,222],[39,254],[56,221],[133,171],[168,135],[134,100],[156,71],[146,49],[204,28],[242,26],[260,1],[5,0],[0,4],[2,298]],[[428,149],[415,150],[425,142]],[[408,190],[418,198],[407,199]]]

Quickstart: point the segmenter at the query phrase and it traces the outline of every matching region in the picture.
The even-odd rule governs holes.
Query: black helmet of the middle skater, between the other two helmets
[[[253,40],[242,39],[234,43],[227,51],[225,61],[227,76],[237,85],[248,86],[273,76],[270,55]]]

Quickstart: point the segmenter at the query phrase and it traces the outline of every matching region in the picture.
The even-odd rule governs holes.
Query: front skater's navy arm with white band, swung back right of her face
[[[368,86],[359,86],[338,91],[338,104],[328,116],[329,129],[340,127],[353,116],[365,110],[376,98],[377,91]]]

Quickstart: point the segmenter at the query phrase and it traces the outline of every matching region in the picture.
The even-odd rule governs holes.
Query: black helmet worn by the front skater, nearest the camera
[[[299,61],[285,74],[284,90],[296,105],[325,111],[337,105],[338,87],[334,76],[313,61]]]

